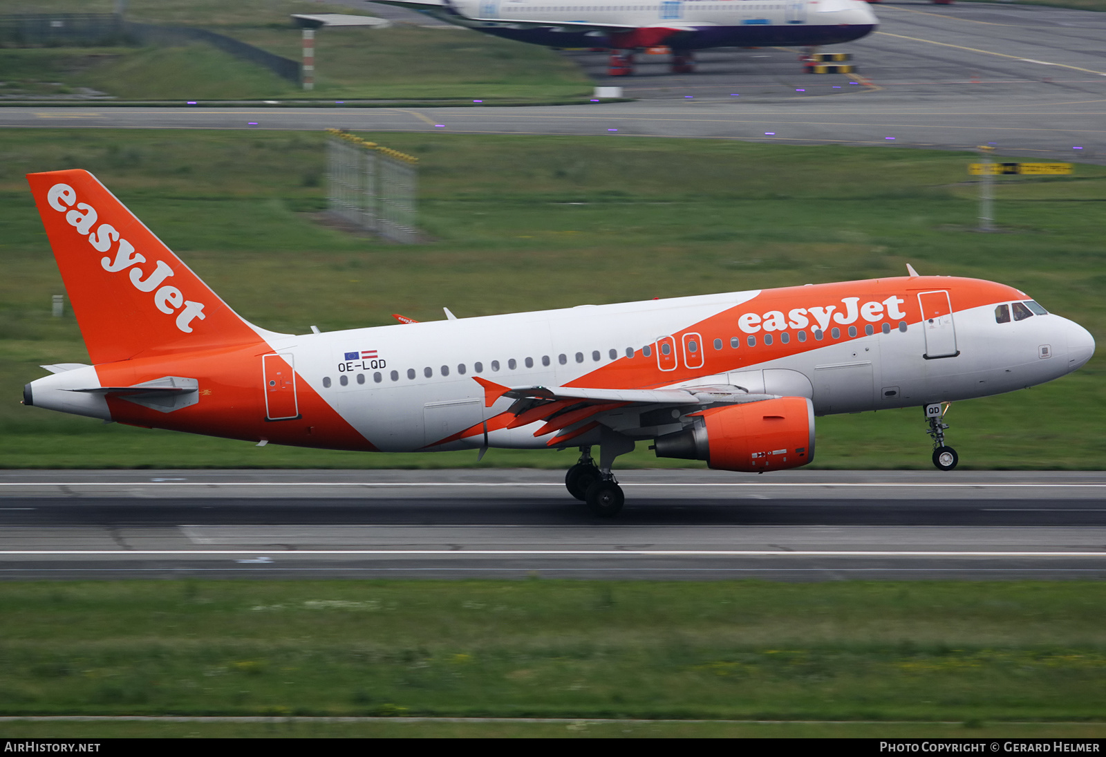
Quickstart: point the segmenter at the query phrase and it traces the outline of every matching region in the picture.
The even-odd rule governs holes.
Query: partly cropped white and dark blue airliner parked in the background
[[[863,0],[374,0],[519,42],[606,48],[613,75],[633,73],[634,51],[667,45],[689,73],[706,48],[815,46],[868,34],[878,20]]]

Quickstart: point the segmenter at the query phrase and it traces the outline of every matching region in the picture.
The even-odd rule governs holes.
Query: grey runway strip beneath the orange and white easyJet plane
[[[560,471],[7,471],[0,577],[1106,577],[1106,474],[620,479],[598,520]]]

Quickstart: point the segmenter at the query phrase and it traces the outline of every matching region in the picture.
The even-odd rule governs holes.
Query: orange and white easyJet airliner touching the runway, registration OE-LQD
[[[93,365],[23,403],[258,444],[365,452],[578,447],[568,491],[622,508],[618,455],[765,471],[814,458],[814,418],[1041,384],[1094,339],[1000,283],[917,276],[281,334],[234,313],[84,170],[31,174]],[[448,314],[448,311],[447,311]],[[596,465],[591,449],[599,447]]]

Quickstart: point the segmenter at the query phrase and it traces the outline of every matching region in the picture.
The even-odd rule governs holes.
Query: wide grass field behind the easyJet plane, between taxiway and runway
[[[979,235],[972,158],[895,148],[611,137],[367,135],[421,158],[411,247],[316,222],[322,135],[8,131],[0,142],[0,465],[7,467],[453,467],[476,453],[255,448],[19,405],[36,366],[87,360],[23,174],[100,176],[238,312],[305,333],[441,318],[925,273],[1022,288],[1106,335],[1106,168],[1000,180],[1003,234]],[[199,156],[202,156],[200,159]],[[964,468],[1100,468],[1104,366],[957,404]],[[816,466],[928,469],[917,409],[818,419]],[[624,467],[658,460],[639,445]],[[565,467],[571,452],[492,450],[483,466]]]

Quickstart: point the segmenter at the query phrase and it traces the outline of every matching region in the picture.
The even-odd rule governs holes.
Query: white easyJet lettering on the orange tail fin
[[[204,314],[204,303],[186,300],[179,289],[165,283],[173,277],[173,268],[164,260],[156,261],[154,270],[148,274],[138,268],[138,263],[146,262],[146,257],[136,252],[134,245],[121,238],[119,232],[111,224],[101,224],[93,230],[97,220],[96,208],[87,203],[77,203],[76,199],[76,191],[67,184],[55,184],[46,193],[46,201],[51,208],[64,212],[69,225],[82,237],[87,237],[88,243],[96,252],[108,253],[100,260],[105,271],[121,273],[129,268],[127,276],[135,289],[139,292],[154,292],[154,307],[166,315],[176,313],[177,328],[190,334],[192,321],[196,319],[202,321],[207,318]],[[113,245],[117,245],[114,257],[111,255]]]

